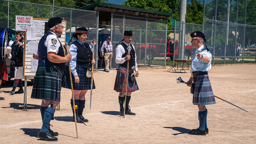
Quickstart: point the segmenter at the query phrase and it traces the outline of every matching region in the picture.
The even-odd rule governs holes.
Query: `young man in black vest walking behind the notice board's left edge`
[[[15,77],[17,67],[23,67],[23,51],[24,51],[24,44],[22,41],[22,35],[19,31],[15,32],[15,40],[10,41],[9,46],[12,47],[12,58],[11,60],[14,61],[14,67],[10,67],[10,78]],[[16,87],[19,85],[19,90],[15,92]],[[22,94],[24,93],[23,86],[22,86],[22,79],[14,79],[13,82],[13,89],[9,92],[9,94]]]

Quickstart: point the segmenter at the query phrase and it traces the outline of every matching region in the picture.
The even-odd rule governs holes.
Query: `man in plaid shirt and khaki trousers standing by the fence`
[[[105,60],[105,68],[104,71],[105,72],[109,72],[109,65],[111,63],[112,60],[112,56],[113,56],[113,46],[112,46],[112,42],[110,41],[111,38],[110,36],[107,37],[107,40],[103,42],[102,47],[101,47],[101,56],[104,56],[104,60]]]

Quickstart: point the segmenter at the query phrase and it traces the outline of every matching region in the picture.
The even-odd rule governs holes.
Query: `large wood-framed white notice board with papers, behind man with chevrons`
[[[39,18],[33,18],[33,23],[35,25],[32,25],[31,27],[36,27],[36,40],[35,42],[32,42],[31,40],[25,39],[25,46],[24,46],[24,76],[35,76],[36,75],[36,69],[38,60],[33,59],[33,53],[34,51],[31,49],[28,49],[28,46],[31,48],[32,46],[37,46],[39,43],[39,40],[44,36],[45,34],[45,23],[47,24],[48,19],[39,19]],[[61,45],[65,45],[66,41],[66,21],[62,20],[62,25],[64,26],[62,34],[58,37],[58,39],[61,42]],[[38,32],[40,31],[40,32]]]

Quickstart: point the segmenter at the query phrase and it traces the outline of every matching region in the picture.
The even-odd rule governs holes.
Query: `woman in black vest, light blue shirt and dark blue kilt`
[[[74,92],[74,102],[73,106],[73,98],[70,99],[71,108],[75,108],[76,110],[76,120],[77,123],[88,122],[88,119],[83,117],[83,109],[85,106],[85,94],[88,90],[91,89],[91,80],[92,77],[87,77],[87,71],[92,70],[92,64],[95,61],[92,61],[93,53],[91,46],[86,43],[87,39],[87,29],[84,27],[77,28],[73,34],[73,37],[76,38],[76,41],[73,42],[69,48],[69,53],[72,58],[70,61],[70,69],[71,69],[71,78],[73,84],[73,92]],[[66,74],[67,84],[66,88],[71,89],[71,82],[69,73]],[[94,81],[93,81],[93,89],[95,89]],[[74,110],[73,112],[73,121],[74,120]]]

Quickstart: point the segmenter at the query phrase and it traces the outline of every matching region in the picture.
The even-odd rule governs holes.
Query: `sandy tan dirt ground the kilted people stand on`
[[[188,135],[199,126],[198,108],[192,104],[190,87],[177,84],[190,73],[166,72],[167,68],[139,69],[136,78],[140,90],[132,93],[131,111],[136,116],[119,116],[118,93],[113,90],[116,70],[94,73],[96,89],[86,94],[84,117],[88,123],[72,122],[71,90],[61,91],[60,110],[51,121],[53,131],[59,132],[54,143],[256,143],[256,65],[212,66],[209,79],[213,92],[245,110],[216,98],[208,109],[206,136]],[[4,83],[0,97],[0,143],[46,143],[37,137],[41,128],[41,100],[31,99],[32,86],[28,81],[28,111],[23,109],[24,94],[9,95],[13,80]],[[17,89],[16,89],[17,91]]]

